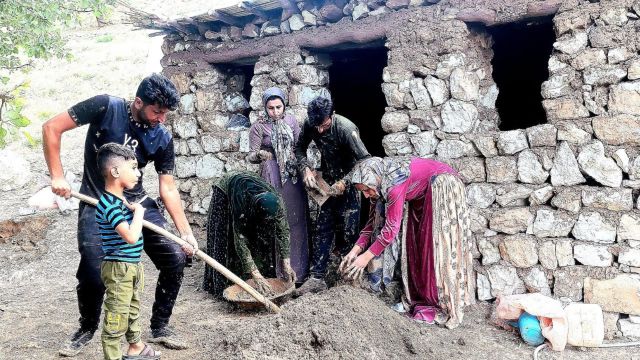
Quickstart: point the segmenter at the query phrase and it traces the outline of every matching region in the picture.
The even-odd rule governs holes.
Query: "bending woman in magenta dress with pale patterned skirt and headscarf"
[[[475,299],[468,207],[458,173],[431,159],[373,157],[359,162],[347,179],[371,199],[372,209],[384,202],[385,214],[384,225],[372,238],[376,213],[371,213],[340,269],[359,277],[397,237],[406,203],[400,238],[403,300],[409,315],[428,323],[446,322],[448,328],[458,326],[464,306]]]

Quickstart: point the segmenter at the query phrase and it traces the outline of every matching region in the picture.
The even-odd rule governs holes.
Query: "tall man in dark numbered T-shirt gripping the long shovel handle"
[[[160,198],[182,239],[191,246],[186,245],[181,249],[177,243],[148,229],[143,230],[144,250],[160,270],[151,316],[152,339],[149,342],[184,349],[186,344],[178,339],[168,327],[168,323],[180,290],[188,255],[197,250],[197,242],[184,214],[180,194],[172,175],[175,165],[173,138],[162,125],[166,120],[166,114],[175,110],[178,102],[178,92],[171,81],[160,74],[152,74],[140,83],[135,100],[126,101],[109,95],[92,97],[45,122],[42,126],[42,137],[44,156],[51,174],[51,189],[55,194],[65,198],[71,195],[71,188],[63,176],[60,143],[64,132],[78,126],[89,124],[80,188],[80,192],[85,195],[99,198],[104,190],[104,179],[96,163],[96,153],[103,144],[115,142],[130,147],[136,155],[140,169],[144,169],[149,162],[154,163],[159,175]],[[147,209],[144,220],[160,227],[167,223],[160,206],[148,198],[142,188],[142,177],[136,186],[127,190],[124,195],[130,203],[141,203]],[[80,328],[71,341],[60,350],[60,354],[64,356],[78,354],[93,338],[100,320],[104,296],[100,264],[104,254],[95,212],[95,207],[84,203],[81,203],[78,211],[80,264],[76,273],[76,289]]]

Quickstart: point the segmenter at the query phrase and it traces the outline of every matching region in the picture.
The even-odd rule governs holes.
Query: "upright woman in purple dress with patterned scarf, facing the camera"
[[[285,115],[286,96],[279,88],[265,90],[262,104],[265,114],[251,126],[247,160],[260,164],[260,176],[284,199],[291,232],[291,266],[302,281],[309,268],[309,245],[307,194],[294,154],[300,126],[292,115]]]

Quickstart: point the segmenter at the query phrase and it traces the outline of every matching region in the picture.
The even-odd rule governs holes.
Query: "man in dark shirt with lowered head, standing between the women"
[[[307,159],[307,148],[311,141],[320,150],[320,170],[329,184],[340,181],[357,161],[371,156],[360,139],[358,127],[344,116],[334,113],[331,99],[314,99],[307,107],[307,115],[296,145],[296,158],[308,188],[317,186],[312,165]],[[310,276],[298,289],[298,294],[327,288],[324,276],[334,242],[339,242],[339,250],[346,253],[358,238],[359,221],[360,195],[353,186],[322,204],[313,229]]]

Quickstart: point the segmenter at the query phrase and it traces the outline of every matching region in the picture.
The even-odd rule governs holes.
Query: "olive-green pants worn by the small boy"
[[[106,288],[102,349],[105,360],[122,358],[120,340],[140,341],[140,294],[144,288],[142,263],[103,261],[100,276]]]

